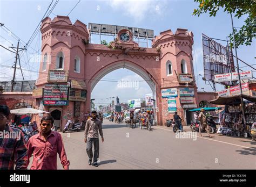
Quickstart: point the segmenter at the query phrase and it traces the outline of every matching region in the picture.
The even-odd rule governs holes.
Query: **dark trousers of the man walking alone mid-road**
[[[99,138],[88,138],[87,139],[87,145],[86,145],[86,152],[89,157],[89,159],[92,159],[92,143],[94,146],[94,157],[93,162],[97,162],[97,159],[99,157]]]

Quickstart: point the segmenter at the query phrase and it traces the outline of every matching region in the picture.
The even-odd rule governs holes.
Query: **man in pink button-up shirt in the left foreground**
[[[30,169],[57,169],[57,153],[64,169],[69,169],[69,160],[63,145],[62,136],[51,131],[54,119],[45,116],[41,119],[41,131],[33,135],[28,141],[28,165],[33,154]]]

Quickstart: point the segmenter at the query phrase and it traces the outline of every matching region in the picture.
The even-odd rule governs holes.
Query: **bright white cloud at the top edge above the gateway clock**
[[[142,21],[149,14],[161,16],[167,1],[153,0],[111,0],[107,1],[113,10],[122,11],[125,16],[131,17],[134,21]]]

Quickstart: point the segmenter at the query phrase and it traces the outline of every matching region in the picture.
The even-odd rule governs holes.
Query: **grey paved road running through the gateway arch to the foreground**
[[[184,129],[188,134],[188,127]],[[149,132],[107,120],[103,133],[98,168],[87,164],[84,132],[61,133],[70,169],[256,169],[256,144],[251,139],[210,139],[206,133],[205,138],[179,138],[170,127],[153,126]],[[58,168],[62,169],[60,161]]]

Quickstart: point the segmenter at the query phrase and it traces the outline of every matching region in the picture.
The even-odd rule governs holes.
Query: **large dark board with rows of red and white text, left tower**
[[[68,100],[67,84],[45,84],[44,100]]]

